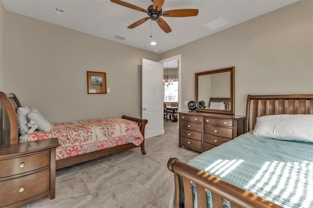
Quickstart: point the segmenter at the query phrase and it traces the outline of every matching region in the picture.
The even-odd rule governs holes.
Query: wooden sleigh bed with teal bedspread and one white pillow
[[[310,114],[313,114],[313,95],[248,95],[246,134],[187,163],[177,158],[168,161],[175,181],[169,207],[312,208],[313,115]],[[265,125],[268,135],[254,135],[264,127],[261,123],[264,118],[272,121],[271,125]],[[273,139],[270,133],[282,133],[282,136]],[[302,134],[309,135],[310,142]]]

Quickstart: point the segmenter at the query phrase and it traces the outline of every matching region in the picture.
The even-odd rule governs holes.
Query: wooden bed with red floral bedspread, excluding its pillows
[[[22,105],[17,97],[0,92],[0,103],[1,145],[58,138],[60,146],[56,149],[56,169],[138,146],[142,154],[146,154],[144,131],[148,121],[145,119],[124,115],[122,118],[52,123],[49,131],[35,131],[22,136],[19,135],[16,114]]]

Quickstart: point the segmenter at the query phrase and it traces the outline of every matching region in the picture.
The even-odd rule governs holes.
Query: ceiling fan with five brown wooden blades
[[[146,22],[147,20],[151,19],[156,21],[158,26],[166,33],[169,33],[172,31],[171,27],[164,21],[161,16],[163,17],[192,17],[197,16],[199,13],[198,9],[174,9],[174,10],[168,10],[168,11],[162,11],[162,6],[164,3],[164,0],[151,0],[153,2],[153,5],[150,5],[148,9],[143,9],[138,6],[135,6],[131,3],[127,3],[122,0],[111,0],[113,3],[117,3],[119,5],[138,10],[140,12],[145,12],[148,14],[149,17],[142,18],[141,20],[138,20],[134,22],[133,24],[129,25],[127,28],[133,29],[140,24]]]

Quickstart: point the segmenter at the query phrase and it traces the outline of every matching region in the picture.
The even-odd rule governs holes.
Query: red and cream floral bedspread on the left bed
[[[27,136],[28,141],[58,138],[56,160],[127,143],[139,146],[144,139],[135,122],[122,118],[52,123],[50,131]]]

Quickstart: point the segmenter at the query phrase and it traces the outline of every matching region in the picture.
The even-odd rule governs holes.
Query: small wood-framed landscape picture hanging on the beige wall
[[[87,71],[88,94],[107,94],[107,80],[105,72]]]

